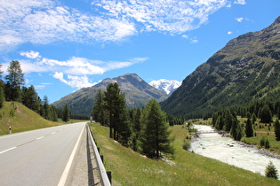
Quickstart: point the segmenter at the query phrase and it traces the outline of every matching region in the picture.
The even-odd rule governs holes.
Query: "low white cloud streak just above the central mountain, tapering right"
[[[60,80],[72,88],[81,89],[91,87],[95,83],[89,80],[90,75],[104,74],[111,70],[116,70],[137,63],[145,62],[148,58],[130,58],[127,61],[100,61],[88,58],[72,57],[61,61],[51,58],[42,58],[39,52],[21,51],[21,56],[29,58],[20,60],[20,66],[25,74],[29,73],[50,73],[52,77]],[[8,63],[4,63],[7,69]],[[37,89],[44,89],[45,84],[41,84]]]

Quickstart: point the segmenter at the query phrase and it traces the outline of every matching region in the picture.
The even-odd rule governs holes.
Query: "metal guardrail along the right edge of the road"
[[[89,125],[87,125],[87,128],[88,128],[88,134],[89,134],[91,142],[92,142],[92,147],[93,147],[93,152],[94,152],[94,156],[96,159],[96,164],[97,164],[97,167],[98,167],[98,170],[100,173],[100,182],[104,186],[111,186],[111,182],[108,178],[108,172],[106,172],[106,169],[103,165],[102,159],[100,157],[100,152],[98,151],[96,143],[93,140],[92,131],[91,131]]]

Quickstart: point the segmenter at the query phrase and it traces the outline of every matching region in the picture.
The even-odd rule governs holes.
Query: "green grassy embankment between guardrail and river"
[[[105,167],[112,171],[113,185],[279,185],[274,179],[183,150],[188,136],[183,126],[171,128],[175,136],[174,166],[145,158],[114,142],[108,137],[108,128],[98,123],[91,126]]]

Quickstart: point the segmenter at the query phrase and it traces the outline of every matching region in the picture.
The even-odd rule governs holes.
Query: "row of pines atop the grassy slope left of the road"
[[[0,64],[0,68],[1,66]],[[57,109],[49,104],[47,96],[44,96],[43,100],[38,97],[33,85],[24,86],[24,74],[19,61],[12,60],[7,68],[8,74],[4,77],[4,81],[2,80],[3,73],[0,71],[0,108],[4,106],[4,101],[15,101],[27,106],[46,120],[58,121],[58,118],[62,118],[64,121],[68,121],[70,119],[68,105],[63,109]]]

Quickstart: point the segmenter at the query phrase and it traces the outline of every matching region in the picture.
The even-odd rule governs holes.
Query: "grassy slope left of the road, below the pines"
[[[5,102],[4,108],[0,109],[0,116],[0,135],[9,134],[10,126],[12,133],[16,133],[58,125],[56,122],[44,120],[39,114],[17,102]]]

